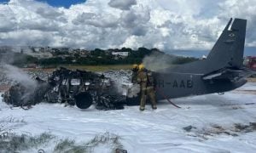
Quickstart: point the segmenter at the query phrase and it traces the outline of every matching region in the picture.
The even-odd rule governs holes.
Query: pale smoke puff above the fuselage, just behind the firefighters
[[[175,59],[172,55],[154,52],[143,59],[143,65],[149,71],[161,71],[171,67]]]

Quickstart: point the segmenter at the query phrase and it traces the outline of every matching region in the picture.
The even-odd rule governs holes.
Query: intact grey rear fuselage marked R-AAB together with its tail
[[[207,59],[155,72],[157,99],[224,93],[241,87],[253,71],[242,65],[247,20],[225,26]]]

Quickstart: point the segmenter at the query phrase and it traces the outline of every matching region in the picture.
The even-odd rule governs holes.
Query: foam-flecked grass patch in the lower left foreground
[[[0,118],[0,152],[44,152],[44,148],[54,153],[86,153],[94,150],[107,149],[111,152],[124,150],[120,143],[119,135],[113,133],[97,134],[95,138],[88,142],[78,143],[73,139],[59,139],[51,133],[41,133],[32,135],[31,133],[15,133],[15,127],[20,127],[26,122],[12,116]],[[53,144],[49,146],[49,144]]]

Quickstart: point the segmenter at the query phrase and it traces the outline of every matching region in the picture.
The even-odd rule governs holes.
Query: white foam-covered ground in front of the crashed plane
[[[255,152],[255,91],[256,83],[250,82],[224,95],[172,99],[182,109],[162,101],[158,110],[152,111],[148,105],[143,112],[138,106],[83,111],[58,104],[35,105],[24,111],[10,109],[0,99],[0,116],[25,120],[26,124],[15,127],[16,133],[51,132],[78,141],[98,133],[115,133],[128,152]]]

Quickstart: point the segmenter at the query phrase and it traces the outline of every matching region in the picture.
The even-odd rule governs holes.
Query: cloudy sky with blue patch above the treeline
[[[233,18],[256,47],[255,0],[0,0],[0,45],[209,50]]]

